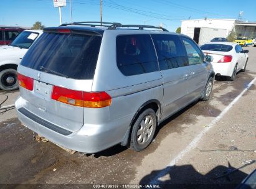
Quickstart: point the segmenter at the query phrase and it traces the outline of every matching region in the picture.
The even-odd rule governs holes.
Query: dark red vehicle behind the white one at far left
[[[24,29],[20,27],[4,27],[0,26],[0,45],[9,45],[21,34]]]

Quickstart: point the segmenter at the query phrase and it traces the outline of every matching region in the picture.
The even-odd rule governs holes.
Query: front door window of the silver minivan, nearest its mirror
[[[197,45],[186,37],[181,38],[186,48],[187,57],[189,58],[189,65],[199,64],[204,62],[204,56]]]

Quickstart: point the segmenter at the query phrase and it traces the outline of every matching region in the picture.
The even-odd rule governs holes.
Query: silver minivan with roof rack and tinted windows
[[[145,149],[160,122],[209,99],[214,81],[186,35],[107,22],[45,28],[17,72],[22,124],[86,153],[116,144]]]

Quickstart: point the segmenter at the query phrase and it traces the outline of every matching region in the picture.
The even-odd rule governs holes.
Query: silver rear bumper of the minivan
[[[24,114],[24,111],[19,111],[19,109],[24,110],[22,106],[24,103],[26,102],[22,97],[19,97],[15,103],[17,117],[24,126],[55,144],[62,145],[67,149],[90,154],[119,144],[123,140],[131,119],[133,118],[132,115],[128,115],[111,122],[106,122],[105,124],[84,124],[79,131],[64,135],[39,124],[40,121],[37,121],[38,119],[31,119],[31,116]],[[34,116],[37,117],[37,115]]]

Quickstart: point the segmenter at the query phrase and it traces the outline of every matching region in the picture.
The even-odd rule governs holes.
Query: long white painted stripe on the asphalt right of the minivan
[[[206,134],[207,131],[209,131],[215,124],[216,122],[218,122],[224,115],[225,113],[227,113],[227,111],[229,111],[230,108],[232,108],[232,106],[234,106],[235,103],[237,103],[237,101],[242,97],[242,95],[249,90],[250,86],[252,86],[252,84],[254,84],[254,81],[256,80],[256,78],[254,78],[254,80],[250,81],[249,85],[247,85],[247,88],[245,88],[242,93],[240,93],[230,104],[229,106],[227,106],[222,113],[219,114],[219,116],[217,116],[214,120],[212,120],[212,122],[206,127],[206,129],[202,130],[201,132],[199,132],[199,134],[193,139],[193,141],[191,141],[189,143],[189,145],[187,145],[187,147],[182,150],[173,160],[171,160],[171,162],[166,166],[166,168],[164,168],[161,172],[158,173],[158,175],[156,175],[152,180],[151,180],[151,184],[157,184],[159,182],[159,178],[163,177],[164,175],[166,175],[170,168],[172,166],[174,166],[185,154],[187,154],[190,150],[194,149],[194,147],[196,147],[197,143],[202,139],[202,136],[204,136],[204,134]]]

